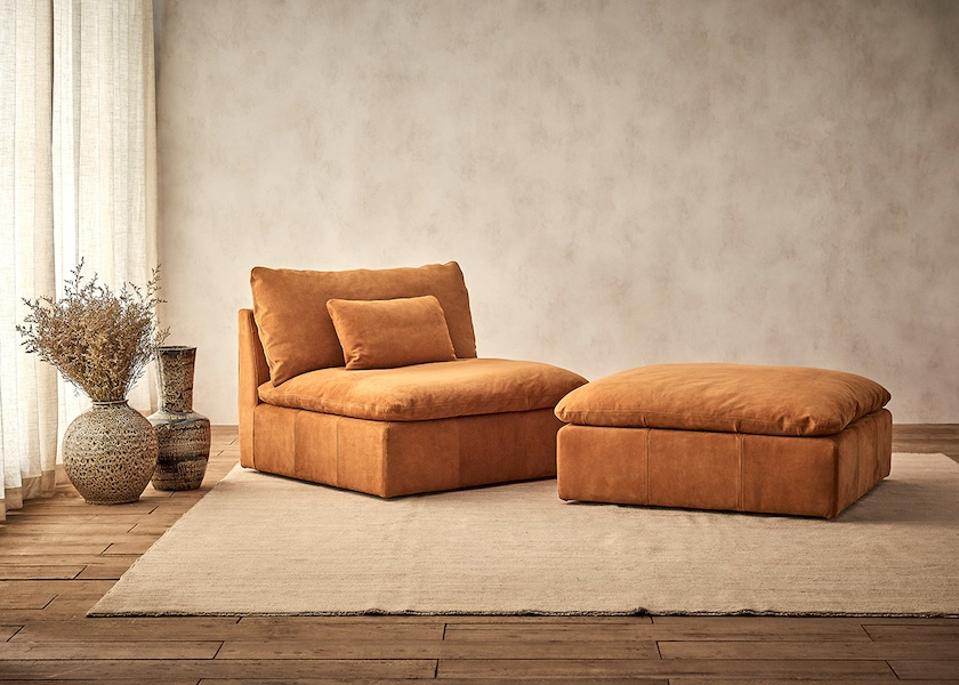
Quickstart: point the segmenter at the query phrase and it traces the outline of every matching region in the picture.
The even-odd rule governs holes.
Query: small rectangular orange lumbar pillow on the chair
[[[456,359],[443,307],[432,295],[331,299],[326,308],[347,369],[389,369]]]

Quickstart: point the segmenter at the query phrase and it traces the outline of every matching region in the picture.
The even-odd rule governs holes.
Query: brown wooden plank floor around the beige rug
[[[213,440],[198,492],[94,507],[64,485],[0,524],[0,680],[959,684],[957,619],[84,618],[236,463],[236,429]],[[897,426],[895,449],[959,461],[959,425]]]

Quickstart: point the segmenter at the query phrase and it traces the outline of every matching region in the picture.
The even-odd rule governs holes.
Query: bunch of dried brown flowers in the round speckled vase
[[[159,291],[159,269],[145,288],[124,283],[114,293],[96,274],[86,278],[81,260],[61,299],[24,299],[30,313],[17,331],[28,353],[94,402],[123,401],[169,333],[157,323]]]

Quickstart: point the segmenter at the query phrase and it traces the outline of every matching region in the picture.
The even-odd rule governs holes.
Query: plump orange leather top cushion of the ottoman
[[[660,364],[584,385],[556,406],[566,423],[759,435],[832,435],[881,409],[889,392],[842,371]]]

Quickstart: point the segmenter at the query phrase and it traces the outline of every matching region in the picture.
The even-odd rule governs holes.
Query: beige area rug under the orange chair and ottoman
[[[895,456],[834,521],[557,499],[383,501],[235,468],[91,615],[959,614],[959,465]]]

